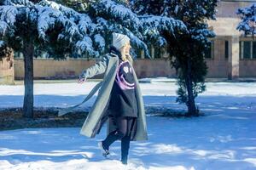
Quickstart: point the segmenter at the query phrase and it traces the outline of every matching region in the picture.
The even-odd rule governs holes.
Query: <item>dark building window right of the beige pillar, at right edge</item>
[[[240,45],[240,59],[256,59],[256,42],[255,41],[241,41]]]

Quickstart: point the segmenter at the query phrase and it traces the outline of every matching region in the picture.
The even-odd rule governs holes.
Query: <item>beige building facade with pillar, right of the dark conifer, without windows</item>
[[[243,32],[237,31],[241,19],[236,14],[238,8],[245,8],[256,1],[236,1],[226,0],[218,3],[217,20],[208,20],[209,27],[215,32],[214,55],[212,59],[207,59],[209,67],[207,77],[228,77],[236,79],[238,77],[255,77],[252,72],[256,68],[254,59],[240,59],[240,41],[253,41],[251,37],[245,37]],[[224,42],[229,42],[229,58],[224,57]],[[248,66],[245,66],[248,65]]]

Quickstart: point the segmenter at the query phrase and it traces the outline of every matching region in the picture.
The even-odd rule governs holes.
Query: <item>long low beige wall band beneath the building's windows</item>
[[[206,59],[207,77],[227,78],[228,59]],[[94,65],[96,59],[34,59],[35,79],[73,79],[77,78],[81,71]],[[137,59],[134,62],[137,77],[176,77],[175,70],[171,68],[167,59]],[[240,77],[256,77],[256,59],[241,59],[239,62]],[[3,71],[1,71],[3,74]],[[5,71],[6,73],[6,71]],[[0,73],[1,75],[1,73]],[[12,75],[11,71],[8,74]],[[15,79],[24,78],[23,59],[15,59]],[[102,75],[96,76],[102,78]]]

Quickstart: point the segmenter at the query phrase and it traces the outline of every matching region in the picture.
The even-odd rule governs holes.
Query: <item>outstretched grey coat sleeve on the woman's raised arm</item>
[[[82,71],[82,73],[79,75],[79,78],[90,78],[98,74],[102,74],[107,70],[107,66],[108,66],[108,55],[105,55],[102,57],[101,60],[96,62],[96,64]]]

